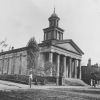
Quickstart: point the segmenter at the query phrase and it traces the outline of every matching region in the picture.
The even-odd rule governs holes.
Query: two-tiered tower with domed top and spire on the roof
[[[55,13],[55,8],[53,14],[48,18],[49,27],[43,29],[44,31],[44,41],[47,40],[63,40],[64,30],[59,27],[60,18]]]

